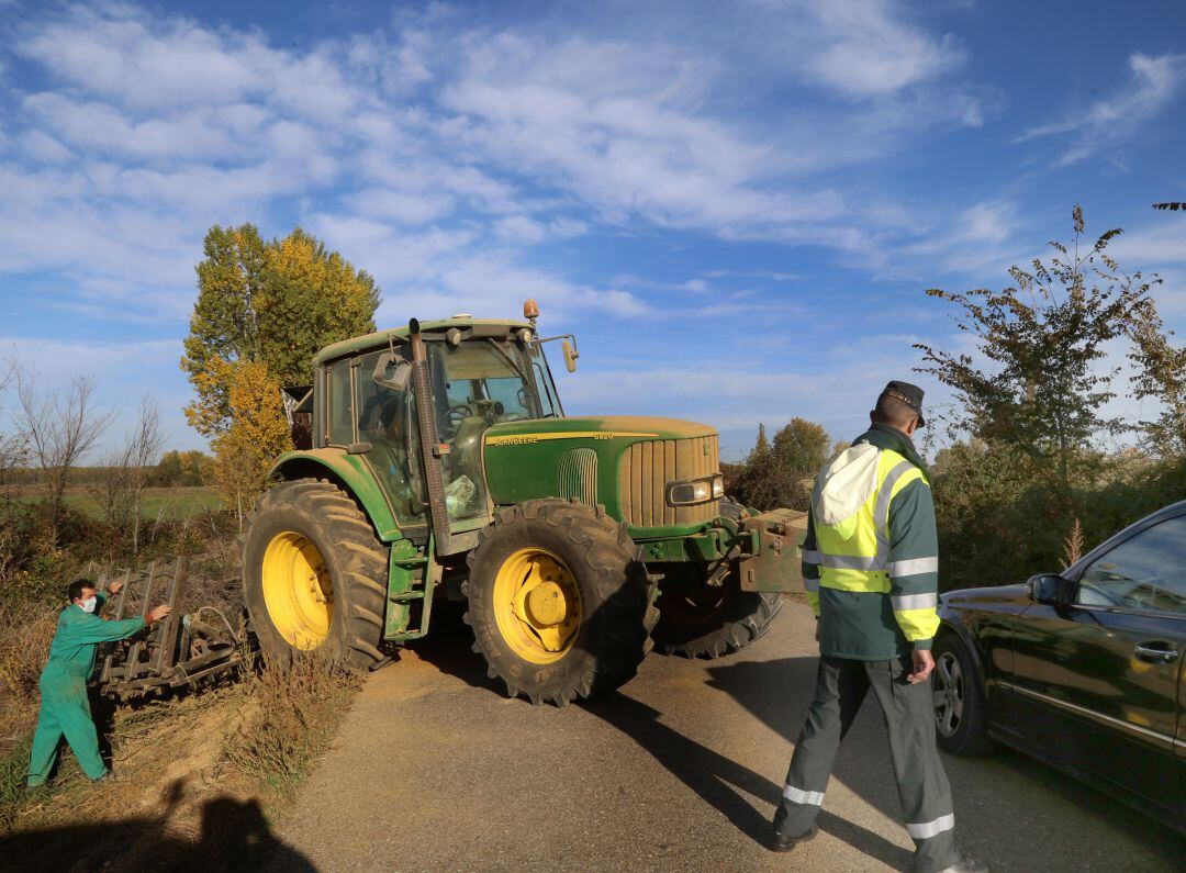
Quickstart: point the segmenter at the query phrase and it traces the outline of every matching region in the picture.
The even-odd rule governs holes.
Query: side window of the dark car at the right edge
[[[1147,528],[1092,561],[1076,603],[1186,616],[1186,516]]]

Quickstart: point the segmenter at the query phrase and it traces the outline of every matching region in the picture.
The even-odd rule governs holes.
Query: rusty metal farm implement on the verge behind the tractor
[[[190,565],[191,559],[178,556],[153,561],[144,569],[100,576],[101,592],[114,581],[123,582],[114,595],[111,618],[144,617],[162,603],[173,608],[148,631],[107,644],[98,669],[101,693],[132,697],[193,686],[242,664],[246,635],[240,614],[228,616],[227,610],[215,606],[183,612],[190,586],[206,581],[191,574]]]

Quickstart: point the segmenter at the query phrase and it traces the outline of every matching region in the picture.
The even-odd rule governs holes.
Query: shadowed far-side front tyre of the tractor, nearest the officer
[[[719,658],[755,643],[783,608],[782,594],[741,591],[737,573],[720,586],[661,590],[655,643],[668,655]]]

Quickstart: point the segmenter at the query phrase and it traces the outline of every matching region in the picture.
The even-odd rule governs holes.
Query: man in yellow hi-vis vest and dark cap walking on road
[[[774,814],[772,848],[816,835],[833,760],[872,688],[885,713],[890,757],[919,873],[987,873],[955,845],[951,788],[935,741],[930,676],[938,629],[935,504],[911,439],[923,427],[923,390],[891,382],[872,427],[820,471],[803,578],[815,612],[815,701]]]

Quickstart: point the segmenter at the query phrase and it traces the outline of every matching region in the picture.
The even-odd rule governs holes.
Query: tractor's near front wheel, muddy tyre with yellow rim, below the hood
[[[651,649],[655,588],[625,525],[601,506],[504,509],[467,560],[473,649],[512,697],[594,696],[633,676]]]

